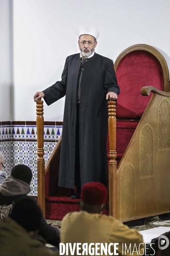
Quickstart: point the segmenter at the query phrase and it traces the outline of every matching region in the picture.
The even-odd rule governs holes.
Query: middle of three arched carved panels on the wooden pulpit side
[[[139,137],[139,178],[153,176],[153,129],[144,124]]]

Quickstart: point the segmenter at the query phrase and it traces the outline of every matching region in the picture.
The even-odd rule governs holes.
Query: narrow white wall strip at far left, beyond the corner
[[[0,0],[0,121],[13,117],[10,8],[10,0]]]

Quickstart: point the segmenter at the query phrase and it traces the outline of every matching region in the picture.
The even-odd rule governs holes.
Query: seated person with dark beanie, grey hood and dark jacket
[[[31,191],[31,179],[32,172],[28,166],[19,164],[12,168],[11,176],[8,176],[0,185],[0,221],[3,217],[10,215],[18,200],[28,197],[27,194]],[[35,198],[34,200],[36,201]],[[48,244],[59,245],[60,229],[48,225],[43,215],[41,215],[39,230],[40,235],[47,240]]]

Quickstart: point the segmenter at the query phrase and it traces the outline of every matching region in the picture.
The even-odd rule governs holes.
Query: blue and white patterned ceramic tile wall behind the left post
[[[44,158],[47,163],[62,134],[62,122],[44,122]],[[37,127],[36,122],[0,122],[0,151],[5,157],[5,172],[10,175],[17,164],[26,164],[33,173],[31,192],[37,195]]]

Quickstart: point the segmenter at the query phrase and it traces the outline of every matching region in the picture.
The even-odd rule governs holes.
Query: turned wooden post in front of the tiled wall
[[[38,176],[38,204],[45,216],[45,161],[44,161],[44,117],[43,101],[37,102],[37,176]]]

